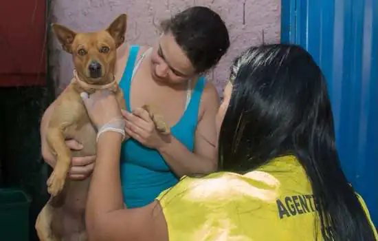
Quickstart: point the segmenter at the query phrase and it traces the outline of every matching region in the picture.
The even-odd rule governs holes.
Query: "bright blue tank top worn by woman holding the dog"
[[[130,86],[135,60],[139,46],[133,45],[129,50],[120,87],[124,92],[127,111],[130,109]],[[189,151],[194,148],[194,133],[197,127],[199,103],[205,78],[200,77],[194,86],[190,102],[176,125],[171,127],[171,135]],[[144,147],[137,140],[130,138],[122,143],[121,149],[121,185],[124,203],[128,208],[142,207],[153,202],[165,189],[178,182],[162,156],[155,149]]]

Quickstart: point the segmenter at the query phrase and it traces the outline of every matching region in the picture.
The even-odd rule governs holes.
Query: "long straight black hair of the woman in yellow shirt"
[[[292,154],[311,182],[323,240],[375,240],[340,167],[326,82],[310,54],[296,45],[249,48],[231,82],[219,167],[244,173]]]

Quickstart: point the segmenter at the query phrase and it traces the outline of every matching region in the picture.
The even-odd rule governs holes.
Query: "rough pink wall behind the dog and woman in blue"
[[[54,0],[54,22],[76,31],[106,27],[120,13],[128,18],[127,41],[152,44],[158,36],[154,24],[179,10],[193,5],[209,6],[218,12],[230,30],[231,46],[219,66],[209,73],[218,90],[227,80],[232,59],[250,45],[276,43],[280,36],[280,0]],[[54,40],[52,47],[53,77],[57,91],[71,79],[72,64]]]

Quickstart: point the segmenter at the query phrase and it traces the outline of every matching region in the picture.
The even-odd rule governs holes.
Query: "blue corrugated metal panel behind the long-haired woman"
[[[378,224],[378,1],[282,0],[281,41],[322,68],[344,172]]]

